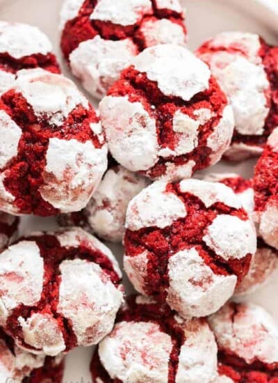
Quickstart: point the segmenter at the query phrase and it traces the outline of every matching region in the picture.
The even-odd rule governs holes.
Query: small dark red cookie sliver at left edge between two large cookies
[[[19,218],[0,212],[0,251],[15,240],[17,236]]]

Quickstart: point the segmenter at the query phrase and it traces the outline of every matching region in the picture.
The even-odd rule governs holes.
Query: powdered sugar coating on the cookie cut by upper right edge
[[[256,34],[226,32],[197,50],[227,94],[234,111],[236,133],[243,136],[234,139],[227,154],[229,159],[238,160],[238,150],[243,159],[252,155],[260,145],[255,143],[252,148],[248,136],[265,134],[265,120],[270,112],[270,81],[263,64],[263,44]],[[239,147],[241,143],[245,146]]]

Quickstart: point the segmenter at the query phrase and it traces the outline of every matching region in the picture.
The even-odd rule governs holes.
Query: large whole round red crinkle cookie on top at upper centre
[[[190,178],[229,147],[234,116],[208,66],[186,48],[145,49],[99,105],[111,155],[149,178]]]

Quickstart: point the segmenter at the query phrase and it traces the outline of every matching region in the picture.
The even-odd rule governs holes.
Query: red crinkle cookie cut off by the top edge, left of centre
[[[186,44],[179,0],[65,0],[60,30],[72,72],[97,98],[142,49]]]

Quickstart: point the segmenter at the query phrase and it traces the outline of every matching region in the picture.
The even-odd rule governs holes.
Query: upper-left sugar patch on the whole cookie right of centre
[[[131,200],[126,212],[126,228],[165,228],[186,217],[185,205],[178,196],[166,192],[166,186],[167,182],[156,181]]]

